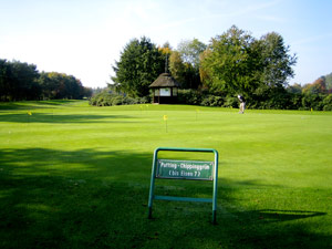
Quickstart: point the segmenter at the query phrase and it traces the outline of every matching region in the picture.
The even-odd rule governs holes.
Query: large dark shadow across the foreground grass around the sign
[[[156,201],[154,219],[148,220],[152,156],[153,152],[0,149],[0,247],[331,247],[329,235],[314,231],[326,214],[251,210],[234,198],[237,189],[231,185],[241,183],[230,180],[219,187],[217,226],[208,221],[210,204]],[[185,194],[188,181],[177,183],[183,187],[158,190]],[[207,186],[203,191],[210,194]]]

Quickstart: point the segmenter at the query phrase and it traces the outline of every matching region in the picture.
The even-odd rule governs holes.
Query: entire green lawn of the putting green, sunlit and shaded
[[[211,204],[155,200],[147,219],[159,146],[219,152],[217,226]],[[332,113],[0,104],[0,248],[332,248],[331,155]],[[156,180],[158,195],[211,190]]]

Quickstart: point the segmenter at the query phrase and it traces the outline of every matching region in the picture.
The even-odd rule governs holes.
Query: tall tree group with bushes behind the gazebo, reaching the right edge
[[[157,46],[143,37],[131,40],[115,61],[112,87],[147,97],[148,85],[169,71],[181,83],[181,102],[188,104],[230,106],[241,94],[253,108],[332,108],[332,75],[320,77],[320,83],[289,85],[297,60],[279,33],[256,39],[235,25],[208,44],[193,39],[177,49],[167,42]]]

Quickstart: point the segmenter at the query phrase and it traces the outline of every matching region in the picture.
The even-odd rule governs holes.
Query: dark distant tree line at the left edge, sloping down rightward
[[[39,72],[37,65],[0,59],[0,101],[80,100],[92,95],[73,75]]]

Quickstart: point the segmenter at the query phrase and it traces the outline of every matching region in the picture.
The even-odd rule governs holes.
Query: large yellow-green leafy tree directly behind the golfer
[[[255,89],[255,70],[250,60],[253,38],[237,27],[214,38],[201,56],[205,84],[219,94],[248,93]]]

